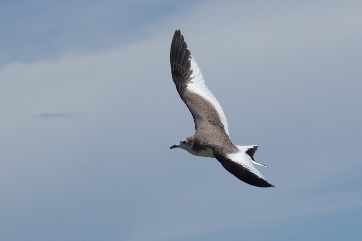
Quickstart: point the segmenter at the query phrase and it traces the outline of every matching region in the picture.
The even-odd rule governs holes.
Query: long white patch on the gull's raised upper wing
[[[202,77],[201,70],[199,69],[199,66],[197,65],[192,55],[190,56],[190,65],[191,65],[190,70],[192,71],[190,77],[192,78],[192,80],[188,83],[187,89],[191,92],[194,92],[195,94],[202,96],[215,107],[216,111],[220,116],[221,122],[224,125],[224,130],[226,134],[229,135],[229,128],[227,125],[227,120],[224,111],[221,108],[218,100],[215,98],[214,95],[211,94],[211,91],[205,85],[205,81]]]

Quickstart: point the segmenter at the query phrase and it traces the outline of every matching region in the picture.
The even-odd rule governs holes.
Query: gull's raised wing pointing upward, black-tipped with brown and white
[[[190,50],[180,30],[176,30],[171,44],[171,73],[178,94],[189,108],[195,121],[195,129],[205,124],[222,128],[229,135],[226,116],[218,100],[205,85]]]

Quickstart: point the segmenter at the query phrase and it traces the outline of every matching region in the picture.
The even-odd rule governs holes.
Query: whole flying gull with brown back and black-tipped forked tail
[[[271,187],[254,167],[258,146],[236,146],[229,137],[228,124],[218,100],[205,85],[201,70],[181,35],[176,30],[171,44],[171,73],[181,99],[189,108],[195,122],[193,136],[182,138],[175,147],[196,156],[216,158],[232,175],[253,186]]]

